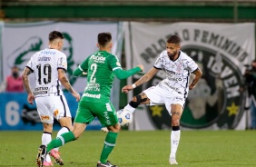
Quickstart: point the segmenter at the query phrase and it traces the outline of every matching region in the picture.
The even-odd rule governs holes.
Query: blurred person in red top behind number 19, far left
[[[24,92],[22,77],[19,75],[17,66],[12,67],[12,74],[5,78],[5,81],[1,84],[0,92]]]

